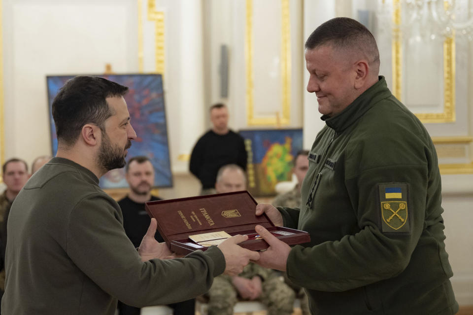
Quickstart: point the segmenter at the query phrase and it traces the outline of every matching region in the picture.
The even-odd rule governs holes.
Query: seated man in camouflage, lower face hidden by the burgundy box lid
[[[246,189],[246,176],[241,167],[225,165],[217,173],[215,190],[228,193]],[[243,300],[260,300],[268,307],[268,315],[293,313],[294,291],[273,270],[248,264],[238,276],[219,276],[207,293],[209,315],[230,315],[239,296]]]

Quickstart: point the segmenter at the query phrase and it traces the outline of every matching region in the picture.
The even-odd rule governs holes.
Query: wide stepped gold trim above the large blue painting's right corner
[[[148,20],[154,21],[154,42],[155,42],[155,59],[156,59],[156,72],[163,76],[164,81],[164,12],[156,10],[156,0],[148,0]]]

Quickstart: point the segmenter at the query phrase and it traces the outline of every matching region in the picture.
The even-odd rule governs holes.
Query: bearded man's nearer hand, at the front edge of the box
[[[260,259],[258,252],[237,245],[247,239],[247,235],[235,235],[218,245],[225,256],[225,274],[236,276],[243,271],[243,267],[248,265],[250,260]]]

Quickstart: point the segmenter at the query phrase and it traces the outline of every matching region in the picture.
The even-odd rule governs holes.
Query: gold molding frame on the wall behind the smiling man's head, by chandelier
[[[448,1],[444,1],[445,8]],[[392,69],[393,94],[402,97],[402,14],[401,0],[393,0]],[[423,123],[446,123],[455,121],[455,33],[443,42],[443,111],[439,113],[415,113]]]

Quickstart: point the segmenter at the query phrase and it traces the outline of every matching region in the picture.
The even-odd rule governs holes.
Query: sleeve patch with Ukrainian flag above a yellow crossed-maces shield
[[[410,233],[407,183],[379,184],[381,232]]]

